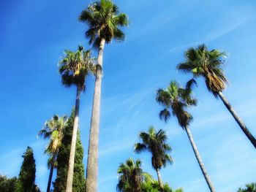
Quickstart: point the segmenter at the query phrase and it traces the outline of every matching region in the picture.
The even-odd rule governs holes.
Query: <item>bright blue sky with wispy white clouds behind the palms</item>
[[[174,164],[162,179],[186,192],[208,191],[203,175],[176,118],[163,123],[154,101],[157,88],[170,80],[184,84],[178,72],[188,47],[206,43],[228,53],[225,96],[256,136],[255,53],[256,1],[116,0],[131,20],[124,42],[105,46],[99,135],[99,192],[115,191],[116,169],[127,158],[140,158],[143,169],[157,178],[147,153],[133,153],[138,132],[148,126],[167,131]],[[89,47],[86,26],[78,22],[89,1],[1,1],[0,17],[0,173],[18,175],[21,155],[30,145],[37,163],[36,183],[45,191],[48,180],[46,141],[37,138],[53,114],[69,115],[75,88],[64,88],[57,73],[65,49]],[[97,53],[94,51],[94,54]],[[219,192],[235,192],[255,182],[256,153],[222,101],[199,80],[191,131],[211,180]],[[94,80],[89,77],[80,107],[80,130],[87,159]]]

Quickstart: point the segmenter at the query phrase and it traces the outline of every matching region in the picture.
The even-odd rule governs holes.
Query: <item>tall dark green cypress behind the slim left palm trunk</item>
[[[56,181],[53,184],[55,192],[65,192],[67,182],[67,170],[69,162],[70,145],[72,139],[72,128],[75,118],[75,111],[72,113],[67,121],[67,126],[64,128],[64,137],[59,148],[57,156],[57,176]],[[85,177],[83,166],[83,146],[80,140],[80,132],[78,132],[78,139],[75,148],[75,166],[74,166],[74,178],[73,178],[73,192],[85,191]]]

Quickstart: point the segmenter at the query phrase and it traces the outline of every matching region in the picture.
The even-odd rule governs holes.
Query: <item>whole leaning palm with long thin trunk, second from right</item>
[[[211,179],[206,172],[202,158],[200,157],[191,131],[189,130],[189,123],[192,121],[192,115],[190,115],[185,108],[197,104],[197,100],[192,97],[192,91],[189,88],[181,88],[177,82],[172,81],[166,90],[159,89],[157,91],[156,100],[164,107],[164,109],[159,112],[159,118],[167,122],[170,118],[170,114],[172,113],[178,119],[178,124],[181,128],[184,128],[187,132],[189,142],[192,145],[192,149],[195,153],[200,169],[203,172],[203,176],[206,179],[206,183],[208,184],[211,192],[215,192],[214,185],[211,183]]]

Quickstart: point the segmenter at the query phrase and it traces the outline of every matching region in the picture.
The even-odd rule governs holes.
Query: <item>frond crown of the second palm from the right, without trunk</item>
[[[189,126],[192,115],[184,108],[197,104],[197,100],[193,98],[190,88],[181,88],[178,82],[172,81],[166,90],[160,88],[157,91],[156,100],[165,107],[164,110],[159,112],[160,119],[164,119],[167,122],[172,113],[178,118],[178,123],[182,128]]]

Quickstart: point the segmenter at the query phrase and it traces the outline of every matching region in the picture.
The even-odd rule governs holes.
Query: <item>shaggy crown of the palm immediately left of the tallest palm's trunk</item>
[[[78,85],[84,90],[86,76],[90,72],[95,72],[91,50],[84,50],[80,45],[76,52],[65,50],[64,58],[59,62],[59,73],[65,86]]]

